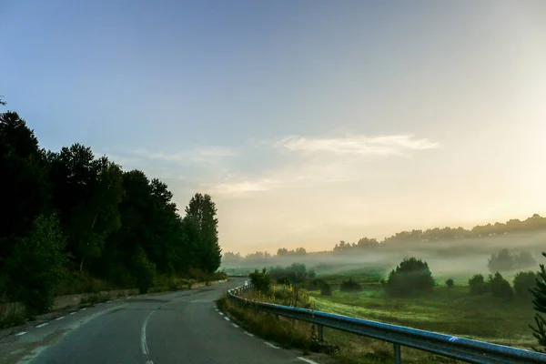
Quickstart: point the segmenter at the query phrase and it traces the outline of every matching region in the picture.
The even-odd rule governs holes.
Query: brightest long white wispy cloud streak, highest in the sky
[[[305,137],[287,136],[274,143],[274,147],[303,153],[325,152],[335,155],[403,156],[410,150],[439,147],[429,139],[411,135]]]

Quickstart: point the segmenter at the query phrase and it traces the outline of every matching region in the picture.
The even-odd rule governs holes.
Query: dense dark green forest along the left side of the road
[[[196,194],[182,217],[159,179],[80,144],[45,150],[10,111],[0,114],[0,176],[2,299],[43,311],[77,275],[147,291],[156,275],[204,278],[220,266],[210,196]]]

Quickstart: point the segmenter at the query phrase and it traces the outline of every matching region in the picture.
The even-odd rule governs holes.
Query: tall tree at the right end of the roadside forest
[[[197,193],[186,207],[187,223],[197,230],[197,262],[207,273],[216,271],[222,259],[216,216],[217,207],[209,195]]]

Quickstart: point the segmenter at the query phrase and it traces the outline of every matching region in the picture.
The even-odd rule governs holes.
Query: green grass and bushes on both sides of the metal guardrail
[[[546,323],[542,318],[546,313],[546,273],[543,266],[541,269],[517,272],[509,281],[498,271],[485,277],[475,274],[470,278],[436,279],[427,262],[418,258],[405,258],[390,270],[361,268],[319,276],[303,264],[292,264],[256,270],[250,280],[257,289],[246,292],[245,297],[541,351],[546,347],[542,329]],[[309,271],[313,273],[308,275]],[[289,329],[287,319],[269,318],[268,314],[226,298],[222,298],[220,307],[246,329],[285,346],[323,349],[342,363],[393,359],[391,344],[380,340],[325,328],[325,344],[319,345],[310,324],[297,323]],[[263,321],[267,325],[260,324],[262,319],[267,320]],[[402,349],[402,356],[410,363],[457,362],[408,348]]]

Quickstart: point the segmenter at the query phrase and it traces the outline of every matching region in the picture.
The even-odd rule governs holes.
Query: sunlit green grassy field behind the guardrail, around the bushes
[[[379,284],[383,272],[347,273],[324,277],[334,288],[331,297],[309,292],[317,309],[523,349],[536,343],[529,328],[534,315],[530,300],[472,296],[466,276],[455,277],[453,288],[439,282],[432,293],[418,298],[389,298]],[[362,291],[339,291],[348,276],[362,285]]]

